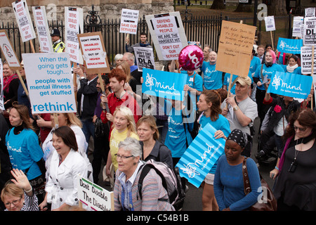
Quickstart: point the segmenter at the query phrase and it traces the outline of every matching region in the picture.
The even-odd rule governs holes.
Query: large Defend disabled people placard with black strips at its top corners
[[[178,60],[180,51],[187,46],[180,13],[146,15],[145,18],[159,60]]]

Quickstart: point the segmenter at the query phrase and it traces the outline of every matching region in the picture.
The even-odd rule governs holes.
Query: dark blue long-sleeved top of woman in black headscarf
[[[251,193],[244,193],[244,179],[242,175],[242,163],[231,166],[228,164],[226,155],[220,156],[214,178],[214,194],[219,210],[230,207],[231,211],[246,210],[257,202],[261,191],[260,176],[256,162],[251,158],[246,161]],[[260,191],[260,192],[259,192]]]

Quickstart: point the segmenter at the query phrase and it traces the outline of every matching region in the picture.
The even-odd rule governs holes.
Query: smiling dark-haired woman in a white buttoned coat
[[[46,198],[39,205],[43,210],[51,203],[51,210],[66,211],[78,205],[78,174],[87,179],[88,168],[84,158],[78,152],[74,131],[70,127],[58,127],[53,131],[53,155],[48,168]]]

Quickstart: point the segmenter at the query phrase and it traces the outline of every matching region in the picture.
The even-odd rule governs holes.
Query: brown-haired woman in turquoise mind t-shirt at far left
[[[44,200],[45,161],[39,146],[39,137],[29,122],[29,110],[25,105],[13,103],[9,121],[13,126],[6,134],[6,147],[13,169],[21,169],[27,175],[35,195]]]

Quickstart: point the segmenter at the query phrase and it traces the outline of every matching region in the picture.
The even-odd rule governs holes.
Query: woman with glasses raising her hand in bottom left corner
[[[4,211],[39,211],[37,195],[27,176],[20,169],[13,169],[11,174],[14,179],[6,182],[1,191],[1,200],[6,206]]]

